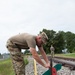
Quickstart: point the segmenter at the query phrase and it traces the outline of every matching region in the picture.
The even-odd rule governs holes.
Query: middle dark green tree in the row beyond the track
[[[62,53],[62,50],[64,49],[65,46],[65,41],[64,41],[62,31],[59,31],[56,34],[56,37],[54,39],[54,46],[55,46],[56,53]]]

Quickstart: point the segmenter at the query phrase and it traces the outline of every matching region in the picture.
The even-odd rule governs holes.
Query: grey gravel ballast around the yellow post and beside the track
[[[29,64],[26,65],[26,75],[34,75],[34,59],[32,57],[28,57]],[[42,59],[43,61],[43,59]],[[56,63],[53,63],[54,65]],[[45,71],[47,71],[47,68],[44,68],[40,64],[36,62],[36,67],[37,67],[37,75],[42,75]],[[71,71],[68,67],[63,67],[61,70],[57,72],[57,75],[75,75],[75,70]]]

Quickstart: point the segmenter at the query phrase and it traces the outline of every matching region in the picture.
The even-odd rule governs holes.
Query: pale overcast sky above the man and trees
[[[75,0],[0,0],[0,53],[9,37],[43,28],[75,33]]]

